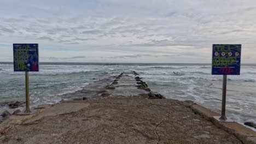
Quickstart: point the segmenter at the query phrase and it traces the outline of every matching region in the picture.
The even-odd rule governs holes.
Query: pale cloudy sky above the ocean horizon
[[[0,0],[0,61],[38,43],[40,62],[211,63],[242,44],[256,63],[255,0]]]

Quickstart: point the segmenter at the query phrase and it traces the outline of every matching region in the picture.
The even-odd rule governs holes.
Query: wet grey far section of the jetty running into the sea
[[[63,99],[68,100],[78,100],[78,99],[100,99],[106,98],[102,96],[103,92],[107,92],[110,95],[108,97],[129,97],[136,96],[141,93],[149,93],[144,91],[144,89],[138,89],[136,86],[138,85],[135,81],[136,75],[133,73],[123,73],[118,76],[108,77],[106,79],[98,80],[93,83],[90,83],[88,86],[84,87],[82,90],[65,94],[62,96]],[[113,82],[117,82],[116,84],[112,84]],[[114,87],[114,89],[110,89],[108,87]]]

